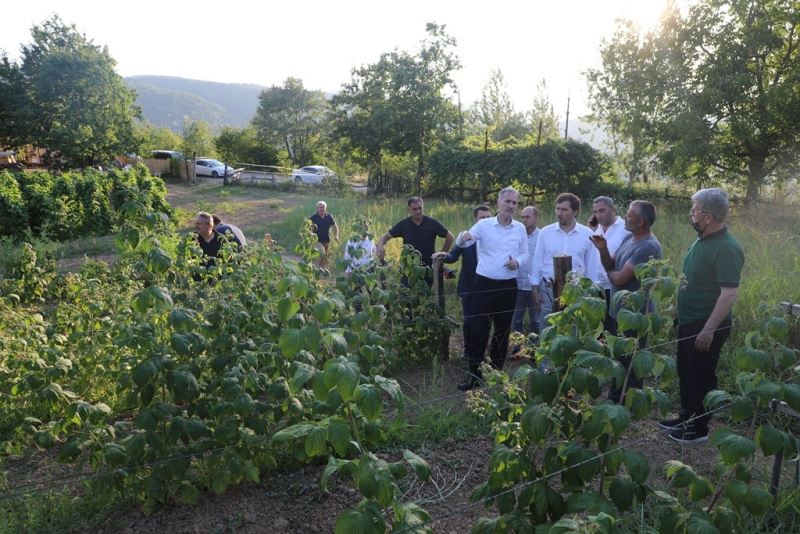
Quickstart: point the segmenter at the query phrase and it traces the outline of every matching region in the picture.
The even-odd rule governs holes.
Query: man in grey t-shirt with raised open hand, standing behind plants
[[[614,293],[627,289],[628,291],[636,291],[641,287],[641,283],[636,279],[636,266],[642,263],[647,263],[651,259],[661,259],[661,243],[658,242],[656,236],[651,232],[651,227],[656,222],[656,207],[646,200],[634,200],[631,202],[628,212],[625,214],[625,229],[631,232],[626,236],[617,249],[614,257],[608,252],[608,245],[606,239],[600,235],[591,237],[592,243],[597,247],[600,252],[600,260],[603,263],[603,268],[608,274],[608,279],[611,282],[611,295]],[[645,303],[645,307],[640,312],[648,311],[649,299]],[[652,304],[649,305],[652,309]],[[617,315],[617,309],[611,306],[609,313],[613,317]],[[616,332],[612,332],[616,334]],[[625,333],[628,335],[628,333]],[[632,333],[630,333],[632,335]],[[639,348],[644,347],[644,339],[640,340]],[[620,358],[620,362],[627,369],[631,363],[630,356]],[[619,384],[611,383],[609,391],[609,399],[614,402],[622,402],[622,391],[619,389]],[[633,388],[641,388],[642,381],[636,377],[634,373],[628,377],[628,386]]]

